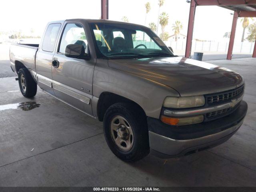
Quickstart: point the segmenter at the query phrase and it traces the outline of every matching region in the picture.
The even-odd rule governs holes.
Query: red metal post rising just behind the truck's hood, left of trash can
[[[187,34],[186,50],[185,50],[186,58],[190,58],[190,55],[191,55],[195,13],[196,13],[196,3],[194,0],[191,0],[190,10],[189,10],[189,18],[188,18],[188,34]]]

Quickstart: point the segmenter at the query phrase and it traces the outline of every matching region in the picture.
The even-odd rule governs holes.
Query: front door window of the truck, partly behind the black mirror
[[[62,38],[60,41],[60,53],[65,53],[66,46],[69,44],[76,44],[87,47],[87,38],[84,28],[81,24],[69,23],[66,24]]]

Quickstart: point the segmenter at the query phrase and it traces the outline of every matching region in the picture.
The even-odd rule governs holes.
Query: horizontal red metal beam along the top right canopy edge
[[[245,5],[256,4],[256,0],[197,0],[196,6],[203,5]]]

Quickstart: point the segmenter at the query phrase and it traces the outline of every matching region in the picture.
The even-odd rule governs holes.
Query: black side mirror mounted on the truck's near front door
[[[65,56],[77,59],[90,59],[89,54],[84,51],[84,46],[75,44],[69,44],[66,46]]]

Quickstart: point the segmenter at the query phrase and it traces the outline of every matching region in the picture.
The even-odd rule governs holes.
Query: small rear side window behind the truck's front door
[[[44,34],[44,40],[42,43],[42,50],[53,52],[54,45],[57,39],[58,32],[60,30],[60,23],[50,24]]]

